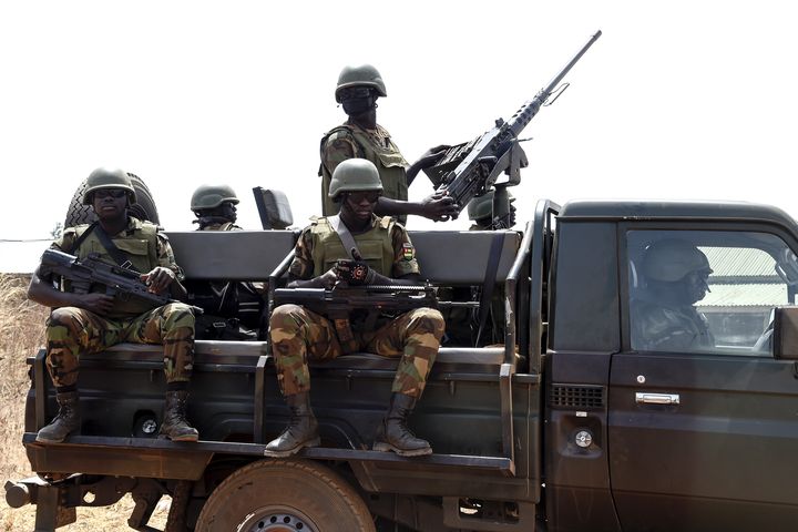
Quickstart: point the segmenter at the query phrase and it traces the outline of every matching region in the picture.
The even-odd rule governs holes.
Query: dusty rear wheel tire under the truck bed
[[[196,532],[375,532],[366,503],[337,473],[303,460],[262,460],[211,493]]]

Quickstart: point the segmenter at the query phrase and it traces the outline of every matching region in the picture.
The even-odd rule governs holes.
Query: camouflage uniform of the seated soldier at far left
[[[65,229],[51,247],[73,253],[79,258],[98,253],[104,260],[113,263],[93,234],[78,249],[72,249],[86,228],[82,225]],[[125,253],[134,269],[149,273],[156,266],[164,266],[175,273],[177,280],[183,280],[183,272],[175,264],[172,247],[155,225],[130,217],[127,228],[111,238]],[[71,290],[69,283],[64,282],[63,289]],[[92,291],[98,290],[99,287],[92,287]],[[163,344],[166,380],[186,382],[193,364],[194,314],[182,303],[150,309],[137,301],[120,301],[109,316],[98,316],[76,307],[61,307],[53,309],[48,319],[47,341],[48,369],[59,388],[75,385],[80,354],[100,352],[121,341]]]

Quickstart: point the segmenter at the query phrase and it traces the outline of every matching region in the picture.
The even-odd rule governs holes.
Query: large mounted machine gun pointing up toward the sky
[[[495,126],[473,141],[451,146],[439,162],[426,168],[424,173],[434,184],[436,192],[443,192],[454,200],[459,209],[474,197],[489,192],[502,172],[508,175],[505,186],[521,183],[521,168],[526,167],[526,154],[519,145],[519,134],[538,114],[543,105],[551,105],[567,89],[567,83],[557,89],[557,84],[576,64],[587,49],[601,37],[597,31],[587,43],[569,61],[546,86],[526,101],[512,117],[504,122],[497,119]],[[550,101],[555,92],[556,94]],[[494,201],[494,205],[499,204]]]

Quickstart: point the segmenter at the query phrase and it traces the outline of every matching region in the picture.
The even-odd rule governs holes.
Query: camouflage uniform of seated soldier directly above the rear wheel
[[[400,277],[418,274],[415,248],[405,228],[389,217],[374,217],[371,229],[352,235],[364,259],[381,275]],[[324,274],[339,258],[346,258],[340,238],[327,218],[317,218],[297,242],[291,278],[310,279]],[[443,318],[431,308],[417,308],[393,317],[376,330],[362,330],[352,321],[355,339],[341,341],[335,324],[298,305],[282,305],[270,320],[270,336],[280,389],[286,396],[308,391],[307,361],[331,360],[344,352],[366,350],[386,357],[401,357],[391,390],[418,398],[438,355]]]

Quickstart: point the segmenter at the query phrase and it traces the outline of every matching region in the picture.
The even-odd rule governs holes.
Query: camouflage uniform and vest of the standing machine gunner
[[[407,201],[409,164],[393,144],[390,133],[381,125],[377,125],[376,130],[366,130],[347,121],[330,130],[321,140],[321,214],[338,214],[338,204],[327,195],[332,172],[341,161],[355,157],[367,158],[377,166],[386,197]],[[401,224],[407,221],[406,215],[396,218]]]

